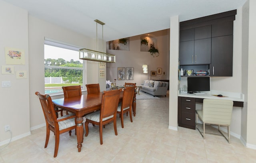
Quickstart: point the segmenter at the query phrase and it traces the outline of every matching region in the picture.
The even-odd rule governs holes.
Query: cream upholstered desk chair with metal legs
[[[233,101],[221,99],[204,99],[202,110],[196,110],[196,128],[205,139],[205,134],[223,136],[230,143],[230,122],[232,118]],[[198,118],[203,122],[203,132],[198,129]],[[205,132],[205,124],[218,125],[220,134]],[[220,126],[228,127],[228,137],[220,131]]]

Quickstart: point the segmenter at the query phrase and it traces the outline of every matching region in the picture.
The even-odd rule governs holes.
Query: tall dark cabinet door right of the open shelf
[[[211,76],[232,77],[233,35],[212,37]]]

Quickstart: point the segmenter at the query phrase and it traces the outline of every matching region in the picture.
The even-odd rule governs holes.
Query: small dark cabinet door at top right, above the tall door
[[[233,21],[212,24],[212,37],[233,35]]]

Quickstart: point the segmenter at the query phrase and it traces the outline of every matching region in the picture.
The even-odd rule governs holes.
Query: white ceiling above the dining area
[[[46,22],[96,38],[96,22],[105,23],[105,41],[170,28],[180,22],[235,10],[246,0],[4,0]],[[98,37],[102,26],[98,24]]]

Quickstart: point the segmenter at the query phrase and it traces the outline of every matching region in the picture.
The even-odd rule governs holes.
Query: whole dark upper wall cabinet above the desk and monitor
[[[232,76],[235,15],[232,10],[180,22],[180,66],[208,65],[211,76]]]

